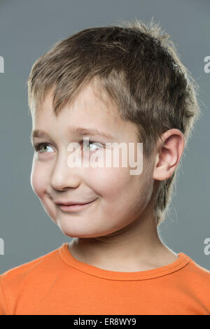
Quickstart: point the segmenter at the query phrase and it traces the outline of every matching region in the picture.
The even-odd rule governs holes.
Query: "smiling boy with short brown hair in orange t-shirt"
[[[73,239],[1,274],[0,314],[210,314],[209,270],[158,235],[200,117],[169,36],[153,21],[85,29],[34,63],[28,88],[31,186]],[[122,142],[143,144],[141,174],[105,165]]]

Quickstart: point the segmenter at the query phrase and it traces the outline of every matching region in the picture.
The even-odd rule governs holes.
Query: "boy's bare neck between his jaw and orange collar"
[[[81,262],[118,272],[134,272],[161,267],[178,258],[158,235],[152,220],[138,219],[109,235],[74,238],[71,255]]]

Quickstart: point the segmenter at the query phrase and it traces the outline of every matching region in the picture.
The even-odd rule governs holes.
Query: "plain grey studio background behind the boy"
[[[204,253],[204,239],[210,238],[210,73],[204,72],[204,57],[210,55],[209,13],[209,1],[200,0],[0,0],[0,55],[5,61],[0,73],[0,273],[71,241],[45,214],[30,185],[33,150],[26,82],[32,64],[77,31],[135,17],[160,22],[200,85],[203,116],[183,153],[172,211],[160,226],[160,237],[174,252],[210,269],[210,255]]]

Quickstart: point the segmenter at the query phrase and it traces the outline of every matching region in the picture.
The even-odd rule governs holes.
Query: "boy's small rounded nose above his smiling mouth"
[[[51,174],[51,186],[55,190],[66,188],[77,188],[80,185],[80,174],[78,167],[68,166],[68,155],[63,154],[57,157]],[[80,169],[81,170],[81,169]]]

